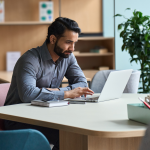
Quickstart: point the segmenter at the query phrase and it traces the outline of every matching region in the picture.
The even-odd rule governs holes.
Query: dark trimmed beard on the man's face
[[[56,42],[56,44],[55,44],[55,47],[54,47],[54,52],[58,55],[58,56],[60,56],[60,57],[62,57],[62,58],[68,58],[69,57],[69,55],[72,53],[72,51],[65,51],[64,53],[63,53],[63,49],[62,48],[60,48],[58,45],[57,45],[57,42]],[[70,53],[70,54],[65,54],[65,53]]]

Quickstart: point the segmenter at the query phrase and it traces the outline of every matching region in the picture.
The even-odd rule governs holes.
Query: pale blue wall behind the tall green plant
[[[114,0],[103,0],[103,32],[104,36],[114,36]],[[132,15],[132,11],[126,8],[136,9],[143,12],[143,15],[150,16],[150,0],[115,0],[115,14],[125,15],[127,18]],[[119,23],[125,21],[122,17],[115,18],[115,57],[116,69],[140,69],[140,65],[130,63],[130,55],[128,52],[122,52],[121,46],[123,44],[122,38],[119,37],[120,31],[117,26]]]

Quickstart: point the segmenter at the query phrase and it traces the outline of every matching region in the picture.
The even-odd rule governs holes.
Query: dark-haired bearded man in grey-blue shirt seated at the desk
[[[87,87],[74,51],[81,32],[78,24],[68,18],[57,18],[48,28],[41,47],[33,48],[17,61],[5,105],[30,103],[34,99],[62,100],[93,94]],[[64,76],[69,86],[59,88]],[[59,149],[59,131],[19,122],[5,121],[7,130],[33,128],[41,131]]]

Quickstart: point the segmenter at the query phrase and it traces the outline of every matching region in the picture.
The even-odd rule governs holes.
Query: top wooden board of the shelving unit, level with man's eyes
[[[91,36],[91,37],[79,37],[78,40],[112,40],[114,37],[103,37],[103,36]]]

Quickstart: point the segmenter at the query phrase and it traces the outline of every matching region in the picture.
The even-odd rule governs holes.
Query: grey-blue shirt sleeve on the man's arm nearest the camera
[[[40,67],[37,58],[21,59],[16,67],[18,94],[22,102],[28,103],[35,99],[64,99],[63,91],[49,91],[46,88],[36,87],[36,74]]]

